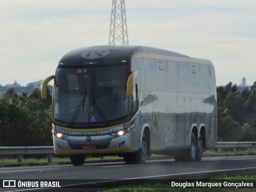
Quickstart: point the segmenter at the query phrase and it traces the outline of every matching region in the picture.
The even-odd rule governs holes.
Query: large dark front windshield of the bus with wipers
[[[54,82],[54,119],[97,124],[128,115],[127,67],[57,68]]]

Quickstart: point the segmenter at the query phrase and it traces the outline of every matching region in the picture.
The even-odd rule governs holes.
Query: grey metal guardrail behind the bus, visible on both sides
[[[214,148],[218,148],[218,154],[221,154],[222,148],[233,148],[236,154],[236,148],[256,147],[256,142],[218,142]],[[47,154],[48,163],[52,161],[54,154],[53,146],[35,146],[35,147],[0,147],[0,155],[18,155],[18,161],[22,162],[22,156],[28,154]]]

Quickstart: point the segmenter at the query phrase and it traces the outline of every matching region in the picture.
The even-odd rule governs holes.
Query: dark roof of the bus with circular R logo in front
[[[159,48],[131,45],[106,45],[71,50],[61,58],[58,66],[104,66],[109,64],[120,64],[122,62],[131,62],[134,55],[141,55],[140,53],[146,55],[162,55],[164,57],[194,60],[193,58],[190,58],[186,55]]]

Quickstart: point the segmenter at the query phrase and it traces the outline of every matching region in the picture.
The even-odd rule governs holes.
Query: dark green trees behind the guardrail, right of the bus
[[[256,82],[237,92],[232,82],[217,88],[218,142],[256,141]]]

